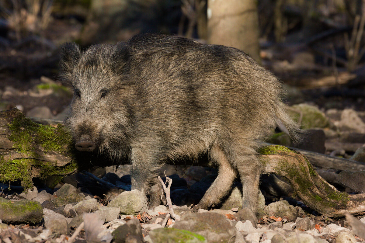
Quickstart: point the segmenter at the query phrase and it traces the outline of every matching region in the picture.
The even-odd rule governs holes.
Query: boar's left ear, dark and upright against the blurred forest
[[[67,42],[61,46],[59,65],[63,76],[67,78],[76,63],[80,60],[81,51],[74,42]]]

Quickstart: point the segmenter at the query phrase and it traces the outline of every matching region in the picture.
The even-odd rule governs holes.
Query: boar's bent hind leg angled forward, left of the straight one
[[[211,159],[214,159],[219,166],[218,176],[212,185],[201,198],[197,208],[207,209],[219,204],[220,200],[226,196],[235,179],[237,173],[228,161],[226,154],[218,145],[214,145],[210,151]]]

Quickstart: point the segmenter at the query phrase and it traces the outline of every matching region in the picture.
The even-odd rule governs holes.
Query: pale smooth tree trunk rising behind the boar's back
[[[208,42],[233,46],[261,63],[256,0],[208,0]]]

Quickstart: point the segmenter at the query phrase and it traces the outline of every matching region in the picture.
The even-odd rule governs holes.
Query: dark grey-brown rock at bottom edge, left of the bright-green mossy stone
[[[143,242],[141,225],[138,219],[130,219],[112,232],[114,243]]]

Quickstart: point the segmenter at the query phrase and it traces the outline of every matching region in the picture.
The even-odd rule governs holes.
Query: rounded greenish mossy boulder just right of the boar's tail
[[[314,105],[303,103],[292,105],[291,108],[288,112],[295,121],[299,122],[301,117],[301,129],[324,128],[329,126],[327,117]]]

